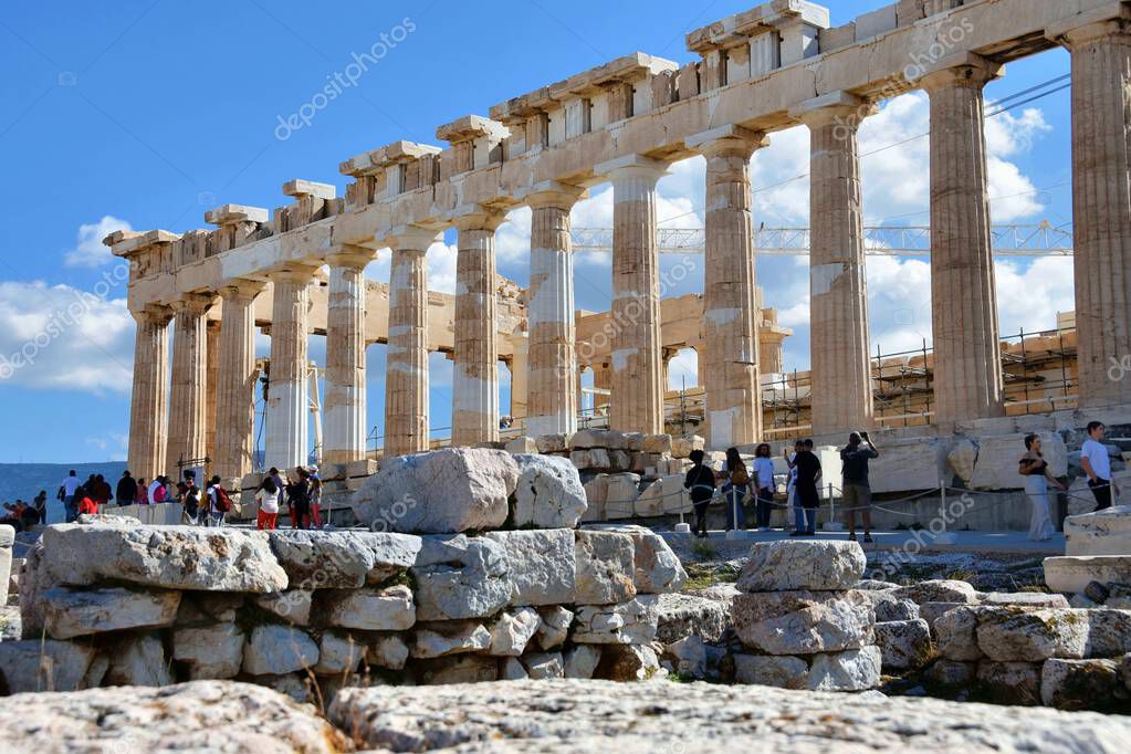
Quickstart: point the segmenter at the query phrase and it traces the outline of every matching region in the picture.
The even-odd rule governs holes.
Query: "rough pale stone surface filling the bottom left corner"
[[[0,703],[0,751],[36,754],[351,748],[314,708],[264,686],[222,681],[20,694]]]

